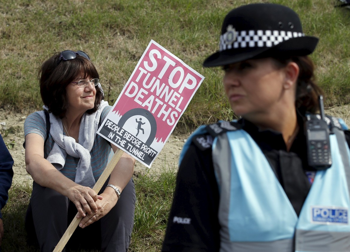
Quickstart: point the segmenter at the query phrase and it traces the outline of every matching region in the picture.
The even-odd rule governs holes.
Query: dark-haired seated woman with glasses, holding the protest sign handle
[[[26,215],[30,242],[52,252],[78,211],[80,228],[66,247],[127,251],[135,159],[124,153],[99,194],[92,189],[111,149],[118,150],[96,134],[111,109],[96,68],[83,51],[67,50],[47,59],[38,79],[47,111],[30,114],[24,124],[26,170],[34,180]]]

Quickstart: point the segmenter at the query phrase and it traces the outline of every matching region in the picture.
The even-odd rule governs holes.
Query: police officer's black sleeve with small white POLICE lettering
[[[177,174],[162,251],[218,251],[218,204],[211,149],[192,143]]]

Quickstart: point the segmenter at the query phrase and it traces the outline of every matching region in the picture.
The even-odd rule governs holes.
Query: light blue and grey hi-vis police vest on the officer
[[[266,157],[246,131],[231,130],[214,138],[220,251],[350,251],[350,151],[343,131],[333,131],[332,166],[317,171],[299,218]],[[187,144],[205,132],[206,128],[200,127]],[[186,150],[185,146],[182,155]]]

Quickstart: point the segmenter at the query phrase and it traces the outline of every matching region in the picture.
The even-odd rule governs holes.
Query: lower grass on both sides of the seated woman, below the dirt
[[[164,169],[159,176],[134,174],[136,208],[130,252],[160,251],[175,188],[174,169]],[[9,201],[2,209],[5,236],[1,249],[6,252],[36,252],[28,247],[24,220],[31,185],[13,185]],[[79,251],[83,252],[83,251]],[[91,251],[95,252],[95,251]]]

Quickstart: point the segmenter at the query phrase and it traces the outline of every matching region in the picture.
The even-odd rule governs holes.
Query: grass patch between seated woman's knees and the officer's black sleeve
[[[176,172],[159,178],[140,174],[135,179],[137,204],[130,251],[160,251],[175,188]]]

